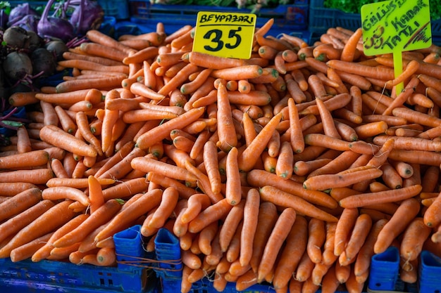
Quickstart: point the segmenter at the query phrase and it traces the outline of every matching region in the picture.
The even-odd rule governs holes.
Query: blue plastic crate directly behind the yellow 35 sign
[[[151,25],[152,28],[156,27],[158,22],[163,22],[168,34],[183,25],[196,25],[197,13],[199,11],[251,12],[249,9],[239,9],[236,7],[151,4],[149,0],[129,0],[129,8],[130,21],[140,25]],[[261,8],[256,13],[256,27],[260,27],[268,19],[274,18],[274,25],[268,34],[278,35],[281,32],[290,33],[307,30],[308,11],[309,5],[307,2],[306,4]]]

